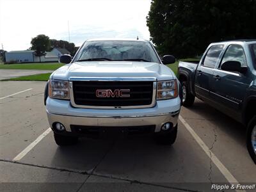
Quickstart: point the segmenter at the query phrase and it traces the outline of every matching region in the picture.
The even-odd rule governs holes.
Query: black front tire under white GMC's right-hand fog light
[[[177,138],[178,124],[170,132],[160,132],[156,135],[156,142],[160,145],[173,145]]]

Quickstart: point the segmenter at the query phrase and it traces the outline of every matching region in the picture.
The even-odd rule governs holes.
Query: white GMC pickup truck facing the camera
[[[180,84],[145,40],[87,40],[51,74],[45,87],[49,124],[58,145],[83,136],[154,133],[172,145],[177,137]]]

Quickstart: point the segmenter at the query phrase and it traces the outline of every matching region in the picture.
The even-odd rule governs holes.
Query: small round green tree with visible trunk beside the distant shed
[[[31,40],[31,49],[35,50],[35,55],[39,56],[41,62],[41,56],[46,54],[46,51],[50,51],[51,42],[49,36],[38,35]]]

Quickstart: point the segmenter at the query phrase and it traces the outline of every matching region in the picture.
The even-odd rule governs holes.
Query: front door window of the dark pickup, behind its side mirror
[[[246,66],[246,57],[243,47],[241,45],[229,45],[227,51],[223,56],[221,65],[226,61],[239,61],[241,63],[241,66]]]

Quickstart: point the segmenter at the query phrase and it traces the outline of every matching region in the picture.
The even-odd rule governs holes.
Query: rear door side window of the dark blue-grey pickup
[[[220,56],[220,53],[223,50],[223,47],[223,45],[212,45],[204,58],[203,66],[214,68]]]

